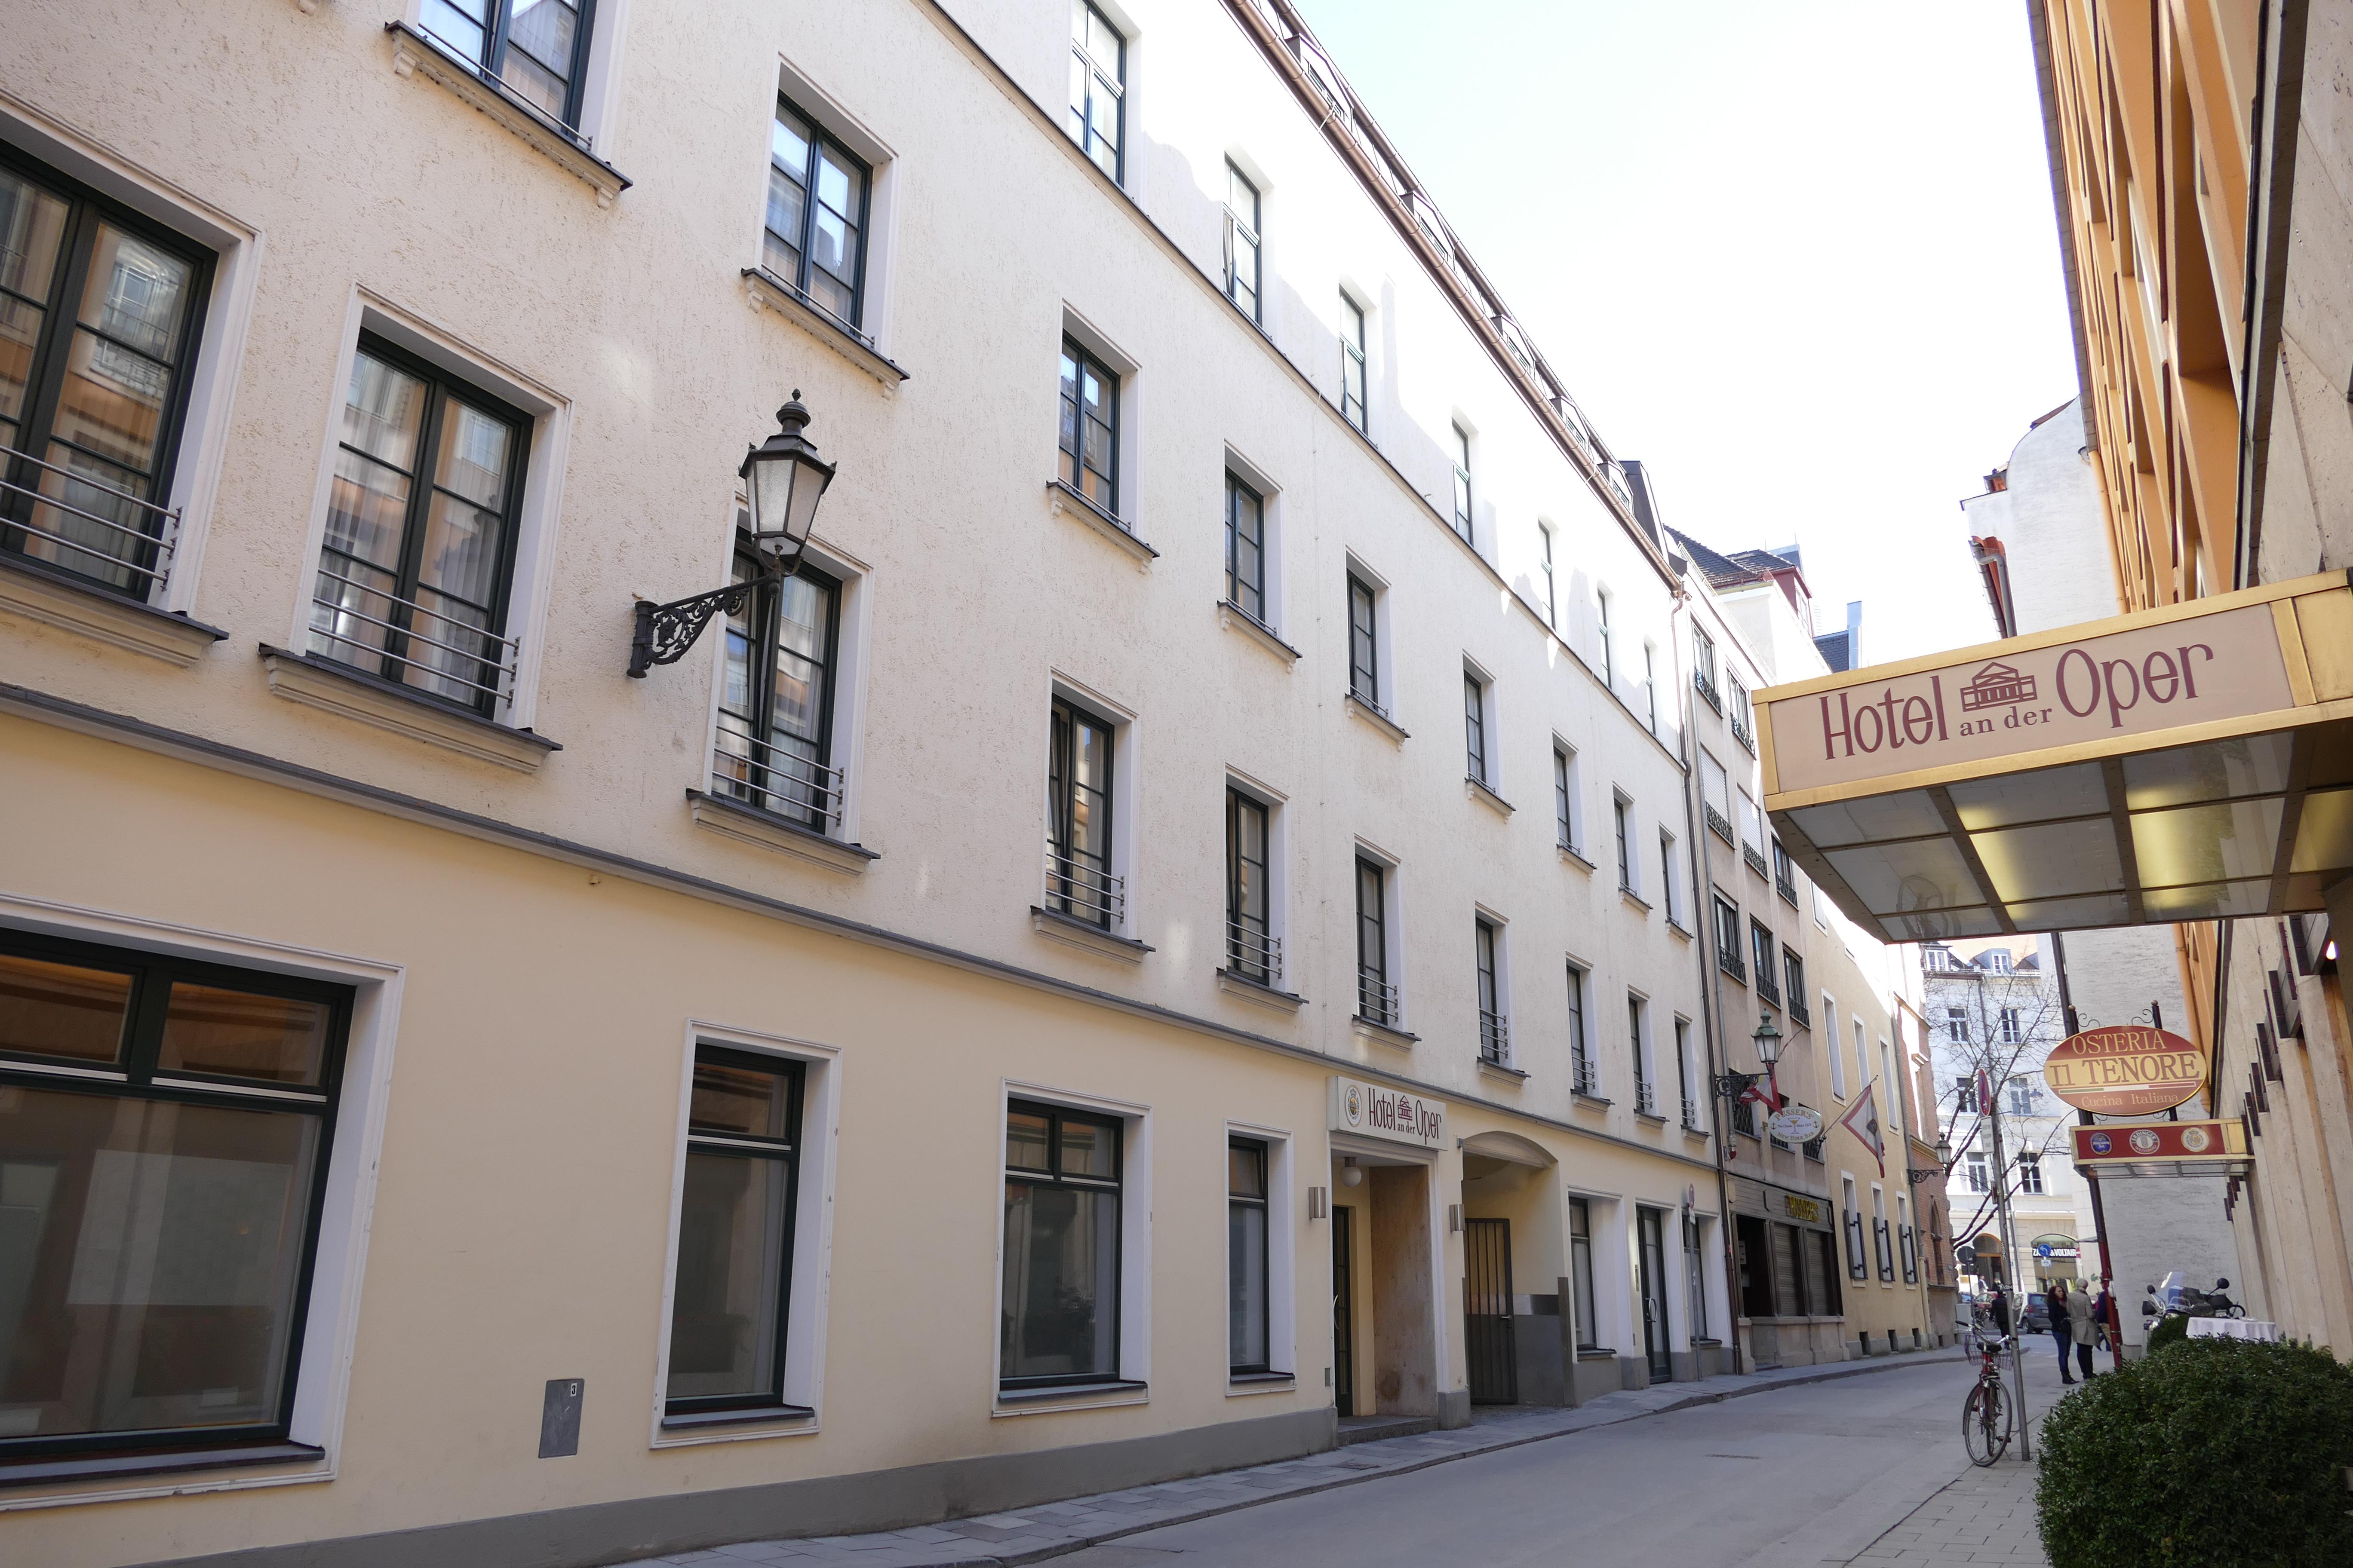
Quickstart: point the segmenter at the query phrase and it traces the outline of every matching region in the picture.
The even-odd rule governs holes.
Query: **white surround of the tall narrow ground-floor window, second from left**
[[[786,1403],[802,1406],[816,1415],[779,1415],[774,1420],[713,1427],[689,1425],[664,1429],[661,1425],[671,1387],[671,1314],[678,1309],[678,1234],[687,1199],[687,1117],[694,1105],[696,1046],[748,1051],[776,1058],[779,1063],[798,1063],[802,1070],[800,1147],[795,1150],[800,1182],[793,1201],[793,1262],[784,1293],[786,1340],[781,1387]],[[661,1251],[661,1324],[654,1338],[649,1448],[809,1436],[824,1425],[826,1326],[831,1316],[826,1307],[833,1288],[833,1152],[842,1117],[840,1056],[840,1046],[812,1039],[767,1034],[701,1018],[687,1020],[678,1070],[678,1131],[671,1152],[671,1229]]]

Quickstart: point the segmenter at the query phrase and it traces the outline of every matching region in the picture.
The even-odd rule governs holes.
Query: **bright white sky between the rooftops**
[[[1671,524],[1995,635],[1960,501],[2075,395],[2024,5],[1301,7]]]

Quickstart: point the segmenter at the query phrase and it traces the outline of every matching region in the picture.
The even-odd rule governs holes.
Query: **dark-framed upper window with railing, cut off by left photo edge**
[[[202,249],[0,153],[0,552],[155,597],[209,282]]]

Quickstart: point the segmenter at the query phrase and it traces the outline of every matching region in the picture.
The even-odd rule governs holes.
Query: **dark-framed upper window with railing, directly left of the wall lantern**
[[[311,651],[489,715],[529,418],[362,334],[344,395]]]

